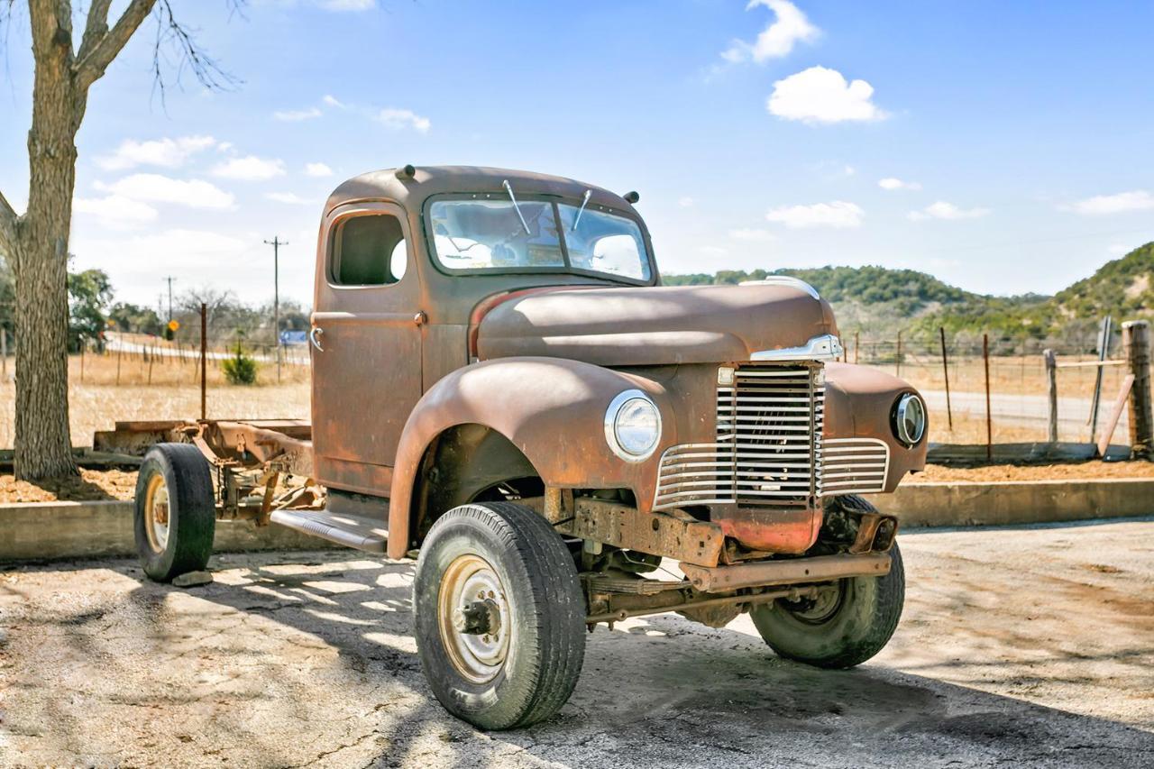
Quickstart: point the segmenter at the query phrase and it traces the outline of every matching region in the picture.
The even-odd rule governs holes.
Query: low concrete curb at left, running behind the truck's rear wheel
[[[0,505],[0,563],[135,555],[134,503],[24,502]],[[257,529],[250,521],[217,522],[217,552],[328,550],[331,543],[285,529]]]

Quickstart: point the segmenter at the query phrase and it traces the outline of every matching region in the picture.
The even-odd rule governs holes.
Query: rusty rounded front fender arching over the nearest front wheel
[[[605,436],[605,412],[628,389],[650,396],[662,434],[647,461],[616,456]],[[665,388],[652,380],[561,358],[500,358],[458,368],[425,393],[405,423],[389,499],[389,557],[413,544],[413,490],[421,462],[444,431],[477,424],[508,439],[547,486],[652,490],[657,461],[676,443]]]

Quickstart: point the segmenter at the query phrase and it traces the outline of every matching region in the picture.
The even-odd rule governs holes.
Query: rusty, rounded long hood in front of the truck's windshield
[[[544,356],[600,366],[750,360],[837,334],[804,285],[583,289],[512,294],[480,321],[481,360]]]

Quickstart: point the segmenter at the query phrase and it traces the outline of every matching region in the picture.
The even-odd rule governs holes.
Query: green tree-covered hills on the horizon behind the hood
[[[838,324],[874,337],[900,328],[927,338],[945,328],[951,336],[1006,341],[1029,338],[1063,348],[1093,345],[1099,320],[1154,315],[1154,242],[1108,262],[1094,275],[1049,297],[995,297],[949,285],[927,272],[884,267],[721,270],[714,275],[667,275],[669,285],[736,284],[770,275],[801,278],[834,306]]]

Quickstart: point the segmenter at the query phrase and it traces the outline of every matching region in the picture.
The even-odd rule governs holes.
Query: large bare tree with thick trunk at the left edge
[[[68,432],[68,232],[76,186],[76,132],[89,89],[104,76],[141,23],[155,14],[153,73],[160,87],[163,46],[173,46],[178,73],[190,70],[208,88],[227,83],[172,12],[170,0],[128,0],[110,27],[112,0],[90,0],[74,45],[70,0],[28,0],[33,62],[32,121],[28,132],[28,208],[20,215],[0,193],[0,251],[16,278],[16,430],[13,464],[21,479],[76,473]],[[234,3],[235,5],[235,0]],[[15,0],[0,0],[0,27]],[[3,30],[7,35],[7,30]],[[5,39],[0,37],[0,39]],[[12,119],[10,110],[8,120]]]

